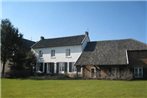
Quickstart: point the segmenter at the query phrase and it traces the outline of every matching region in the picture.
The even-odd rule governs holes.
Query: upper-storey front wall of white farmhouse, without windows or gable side
[[[70,49],[71,56],[66,57],[66,49]],[[39,51],[43,52],[43,57],[39,57]],[[51,50],[55,50],[55,57],[51,57]],[[62,46],[51,48],[33,49],[38,62],[76,62],[82,53],[81,45],[77,46]]]

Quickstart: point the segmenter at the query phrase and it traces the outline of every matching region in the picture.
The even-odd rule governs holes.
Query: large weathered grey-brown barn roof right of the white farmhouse
[[[133,39],[89,42],[75,65],[127,64],[127,50],[147,50],[147,45]]]

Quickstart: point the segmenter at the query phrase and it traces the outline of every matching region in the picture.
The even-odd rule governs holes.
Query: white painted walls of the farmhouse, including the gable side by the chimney
[[[87,45],[87,42],[89,42],[89,36],[85,34],[85,38],[81,42],[81,45],[75,45],[75,46],[61,46],[61,47],[49,47],[49,48],[39,48],[39,49],[32,49],[32,51],[35,53],[37,57],[37,62],[43,62],[43,63],[54,63],[55,64],[55,72],[56,72],[56,63],[57,62],[76,62],[78,58],[80,57],[82,51]],[[66,56],[66,49],[70,49],[70,56]],[[39,51],[43,52],[43,56],[39,57]],[[51,57],[51,50],[55,50],[55,56]],[[44,69],[44,68],[43,68]],[[69,72],[69,65],[67,65],[67,72],[68,73],[76,73],[76,72]],[[82,73],[82,70],[81,70]]]

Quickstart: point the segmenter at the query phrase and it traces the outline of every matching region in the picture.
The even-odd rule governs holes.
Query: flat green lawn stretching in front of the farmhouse
[[[147,98],[147,81],[2,79],[2,98]]]

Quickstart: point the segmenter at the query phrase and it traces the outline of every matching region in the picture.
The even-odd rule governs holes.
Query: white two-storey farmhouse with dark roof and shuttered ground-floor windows
[[[36,71],[46,74],[75,75],[81,69],[74,66],[89,42],[88,32],[84,35],[42,39],[32,46],[37,57]]]

